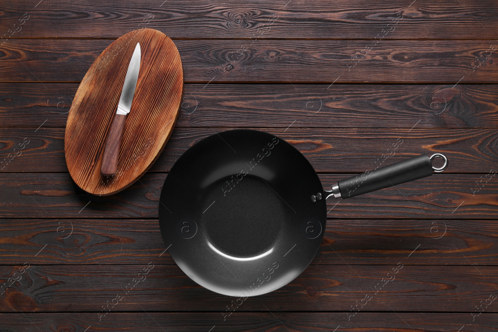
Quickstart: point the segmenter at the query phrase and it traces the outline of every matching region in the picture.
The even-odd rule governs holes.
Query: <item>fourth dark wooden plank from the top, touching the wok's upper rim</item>
[[[47,120],[48,122],[48,120]],[[256,124],[254,119],[254,124]],[[270,121],[260,118],[260,126]],[[417,120],[411,121],[412,127]],[[291,125],[291,126],[290,126]],[[260,128],[292,144],[318,172],[364,172],[425,153],[443,153],[450,161],[447,172],[498,170],[496,129],[330,129]],[[217,132],[234,128],[177,128],[151,171],[169,171],[192,145]],[[1,171],[67,171],[63,128],[3,128],[0,133]],[[15,150],[25,143],[23,150]],[[230,142],[229,142],[230,143]],[[12,158],[9,154],[17,156]],[[137,153],[138,154],[138,153]],[[11,161],[8,161],[12,158]],[[140,158],[140,157],[137,157]],[[5,160],[6,159],[6,160]],[[436,165],[437,162],[434,162]]]

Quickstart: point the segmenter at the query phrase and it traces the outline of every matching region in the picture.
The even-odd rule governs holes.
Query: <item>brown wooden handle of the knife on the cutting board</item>
[[[125,120],[125,115],[114,115],[113,122],[107,133],[106,146],[104,147],[104,154],[102,156],[102,165],[100,167],[102,175],[109,176],[116,174]]]

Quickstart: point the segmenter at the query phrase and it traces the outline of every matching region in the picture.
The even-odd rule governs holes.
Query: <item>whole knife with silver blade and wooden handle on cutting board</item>
[[[107,133],[106,146],[102,156],[100,173],[105,176],[114,175],[118,169],[121,139],[123,138],[124,121],[131,109],[133,95],[135,94],[136,80],[140,71],[140,44],[136,43],[135,50],[129,60],[128,70],[124,77],[123,90],[121,91],[118,109]]]

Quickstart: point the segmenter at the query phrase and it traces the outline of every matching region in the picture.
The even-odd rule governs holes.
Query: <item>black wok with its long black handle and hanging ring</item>
[[[444,166],[431,161],[440,157]],[[322,242],[325,200],[348,198],[443,171],[420,155],[324,190],[306,158],[255,130],[212,135],[188,149],[161,191],[159,223],[176,264],[199,285],[229,296],[274,291],[296,278]]]

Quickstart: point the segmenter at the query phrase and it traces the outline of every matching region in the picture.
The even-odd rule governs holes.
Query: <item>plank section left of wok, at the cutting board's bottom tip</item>
[[[80,189],[69,173],[19,175],[0,176],[2,217],[29,217],[29,206],[42,218],[157,217],[160,188],[166,178],[166,174],[145,174],[126,190],[101,197]]]

